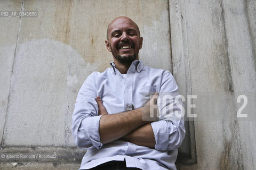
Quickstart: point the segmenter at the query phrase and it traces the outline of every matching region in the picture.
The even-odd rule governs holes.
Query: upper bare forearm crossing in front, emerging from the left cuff
[[[128,112],[102,115],[99,123],[100,141],[109,143],[149,123],[142,121],[143,112],[148,112],[147,109],[140,107]]]

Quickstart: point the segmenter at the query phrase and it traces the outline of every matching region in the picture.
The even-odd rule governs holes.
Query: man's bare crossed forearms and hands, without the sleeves
[[[99,107],[99,115],[102,115],[99,123],[101,142],[105,144],[121,138],[140,146],[154,148],[156,141],[150,123],[158,120],[158,113],[154,113],[151,121],[143,121],[142,117],[149,120],[150,105],[156,103],[157,97],[156,93],[145,106],[118,114],[108,114],[101,98],[97,97],[95,100]]]

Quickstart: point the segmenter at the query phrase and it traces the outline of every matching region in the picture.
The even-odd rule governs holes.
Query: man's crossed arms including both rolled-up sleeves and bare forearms
[[[72,133],[78,148],[99,149],[102,143],[117,139],[161,151],[179,148],[185,137],[183,117],[176,117],[174,114],[182,113],[178,105],[180,101],[168,98],[164,103],[163,96],[166,94],[162,92],[160,99],[155,95],[145,106],[132,111],[108,114],[101,99],[97,97],[98,101],[95,101],[96,87],[95,83],[91,83],[94,79],[94,74],[91,74],[79,90],[72,116]],[[161,90],[168,91],[166,96],[177,96],[178,87],[171,73],[163,75],[163,80],[165,81],[162,81]],[[158,118],[152,120],[149,116],[149,106],[150,103],[154,104],[154,99],[159,100],[159,121]],[[142,121],[142,117],[143,120],[150,121]]]

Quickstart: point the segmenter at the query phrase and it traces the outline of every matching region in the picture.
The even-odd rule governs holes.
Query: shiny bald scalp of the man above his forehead
[[[126,17],[126,16],[118,16],[117,18],[115,18],[112,22],[110,22],[110,24],[108,25],[108,29],[107,29],[107,39],[109,40],[109,36],[110,36],[110,30],[113,29],[113,27],[118,23],[124,23],[127,22],[129,24],[132,24],[134,26],[134,28],[136,29],[136,31],[138,32],[138,35],[140,37],[140,29],[138,27],[138,25],[132,21],[130,18]]]

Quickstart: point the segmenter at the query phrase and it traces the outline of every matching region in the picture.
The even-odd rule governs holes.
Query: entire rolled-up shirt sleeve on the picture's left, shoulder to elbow
[[[89,75],[78,92],[72,116],[72,134],[80,149],[100,148],[98,105],[95,72]]]

